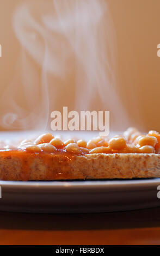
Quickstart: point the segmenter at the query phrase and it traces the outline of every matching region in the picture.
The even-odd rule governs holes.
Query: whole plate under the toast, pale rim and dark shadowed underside
[[[160,206],[160,179],[0,181],[1,211],[109,212]]]

